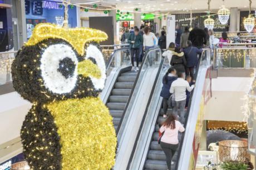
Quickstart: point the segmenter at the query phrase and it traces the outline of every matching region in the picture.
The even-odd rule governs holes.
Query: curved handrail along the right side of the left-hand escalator
[[[137,74],[137,76],[136,76],[134,85],[132,86],[132,89],[131,89],[131,94],[130,94],[129,99],[128,99],[127,103],[126,103],[125,110],[124,110],[124,114],[122,114],[121,120],[120,120],[120,122],[119,122],[119,126],[117,127],[117,130],[116,130],[116,134],[117,134],[117,135],[119,134],[119,130],[120,130],[120,127],[121,127],[121,125],[122,125],[122,121],[124,120],[126,111],[127,111],[128,107],[129,107],[129,104],[130,104],[131,98],[132,98],[132,96],[133,96],[133,93],[134,93],[134,90],[135,90],[137,81],[138,81],[139,78],[140,78],[141,69],[143,68],[143,66],[144,66],[144,64],[145,64],[146,59],[149,57],[148,54],[151,53],[151,51],[156,51],[156,50],[161,51],[160,48],[155,47],[155,48],[151,48],[151,49],[147,50],[146,53],[145,53],[145,55],[144,55],[145,57],[144,57],[144,59],[142,60],[142,63],[141,63],[141,66],[140,66],[140,70],[139,70],[139,72],[138,72],[138,74]]]

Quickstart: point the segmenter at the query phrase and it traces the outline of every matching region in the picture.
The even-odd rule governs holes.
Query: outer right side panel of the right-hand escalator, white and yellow
[[[180,141],[178,163],[175,169],[195,169],[200,136],[203,128],[205,105],[211,98],[211,51],[205,48],[196,70],[196,83],[186,117],[186,131]]]

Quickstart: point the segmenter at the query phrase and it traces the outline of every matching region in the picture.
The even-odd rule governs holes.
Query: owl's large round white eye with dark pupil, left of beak
[[[50,45],[42,53],[40,69],[45,87],[56,94],[71,92],[77,82],[77,56],[65,44]]]

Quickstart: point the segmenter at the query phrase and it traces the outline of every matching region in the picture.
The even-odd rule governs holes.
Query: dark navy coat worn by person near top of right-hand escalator
[[[202,49],[198,49],[197,47],[188,47],[183,50],[186,58],[186,66],[191,68],[198,64],[198,54],[203,52]]]

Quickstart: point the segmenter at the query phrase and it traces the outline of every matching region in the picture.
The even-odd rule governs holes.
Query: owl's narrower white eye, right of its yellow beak
[[[103,54],[101,53],[100,49],[97,45],[90,44],[86,49],[86,57],[85,59],[91,60],[94,64],[96,64],[101,71],[101,76],[99,79],[93,78],[90,76],[91,81],[96,90],[102,90],[105,85],[106,80],[106,65],[103,59]]]

